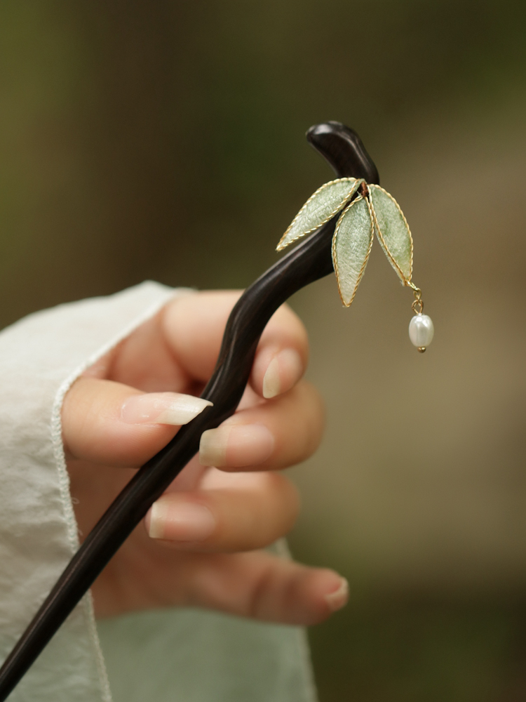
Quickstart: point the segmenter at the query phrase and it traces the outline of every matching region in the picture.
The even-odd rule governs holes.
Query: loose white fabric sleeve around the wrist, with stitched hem
[[[187,293],[145,282],[36,312],[0,333],[0,660],[79,545],[62,449],[65,393]],[[10,702],[110,702],[110,687],[115,702],[314,700],[300,628],[170,609],[113,618],[99,630],[100,640],[87,595]]]

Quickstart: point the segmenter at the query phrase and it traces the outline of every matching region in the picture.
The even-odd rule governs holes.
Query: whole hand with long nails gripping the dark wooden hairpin
[[[163,408],[195,404],[173,393],[201,392],[237,298],[175,298],[67,393],[63,438],[81,535],[175,435],[179,426],[161,421],[184,422]],[[281,307],[238,411],[203,434],[199,456],[95,581],[97,616],[177,605],[311,624],[345,604],[346,582],[335,572],[260,550],[290,530],[299,508],[295,487],[277,471],[310,456],[321,439],[321,399],[300,379],[307,353],[304,327]]]

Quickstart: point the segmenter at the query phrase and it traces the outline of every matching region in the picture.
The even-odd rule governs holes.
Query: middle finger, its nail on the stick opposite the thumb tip
[[[203,432],[199,460],[223,470],[276,470],[311,456],[321,441],[323,402],[302,381],[285,395],[238,411],[217,429]]]

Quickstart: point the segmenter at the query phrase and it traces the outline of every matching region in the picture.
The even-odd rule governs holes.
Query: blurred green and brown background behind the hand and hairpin
[[[328,404],[292,549],[349,606],[321,702],[526,698],[526,5],[4,0],[0,323],[146,278],[244,287],[360,133],[415,239],[436,340],[378,246],[351,310],[292,300]]]

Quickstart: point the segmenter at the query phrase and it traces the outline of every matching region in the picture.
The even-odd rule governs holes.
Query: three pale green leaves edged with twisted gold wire
[[[383,187],[367,185],[361,178],[339,178],[318,188],[283,234],[278,251],[315,231],[339,212],[342,214],[332,239],[332,261],[342,303],[349,307],[356,295],[374,232],[402,284],[419,292],[411,282],[413,241],[400,206]]]

